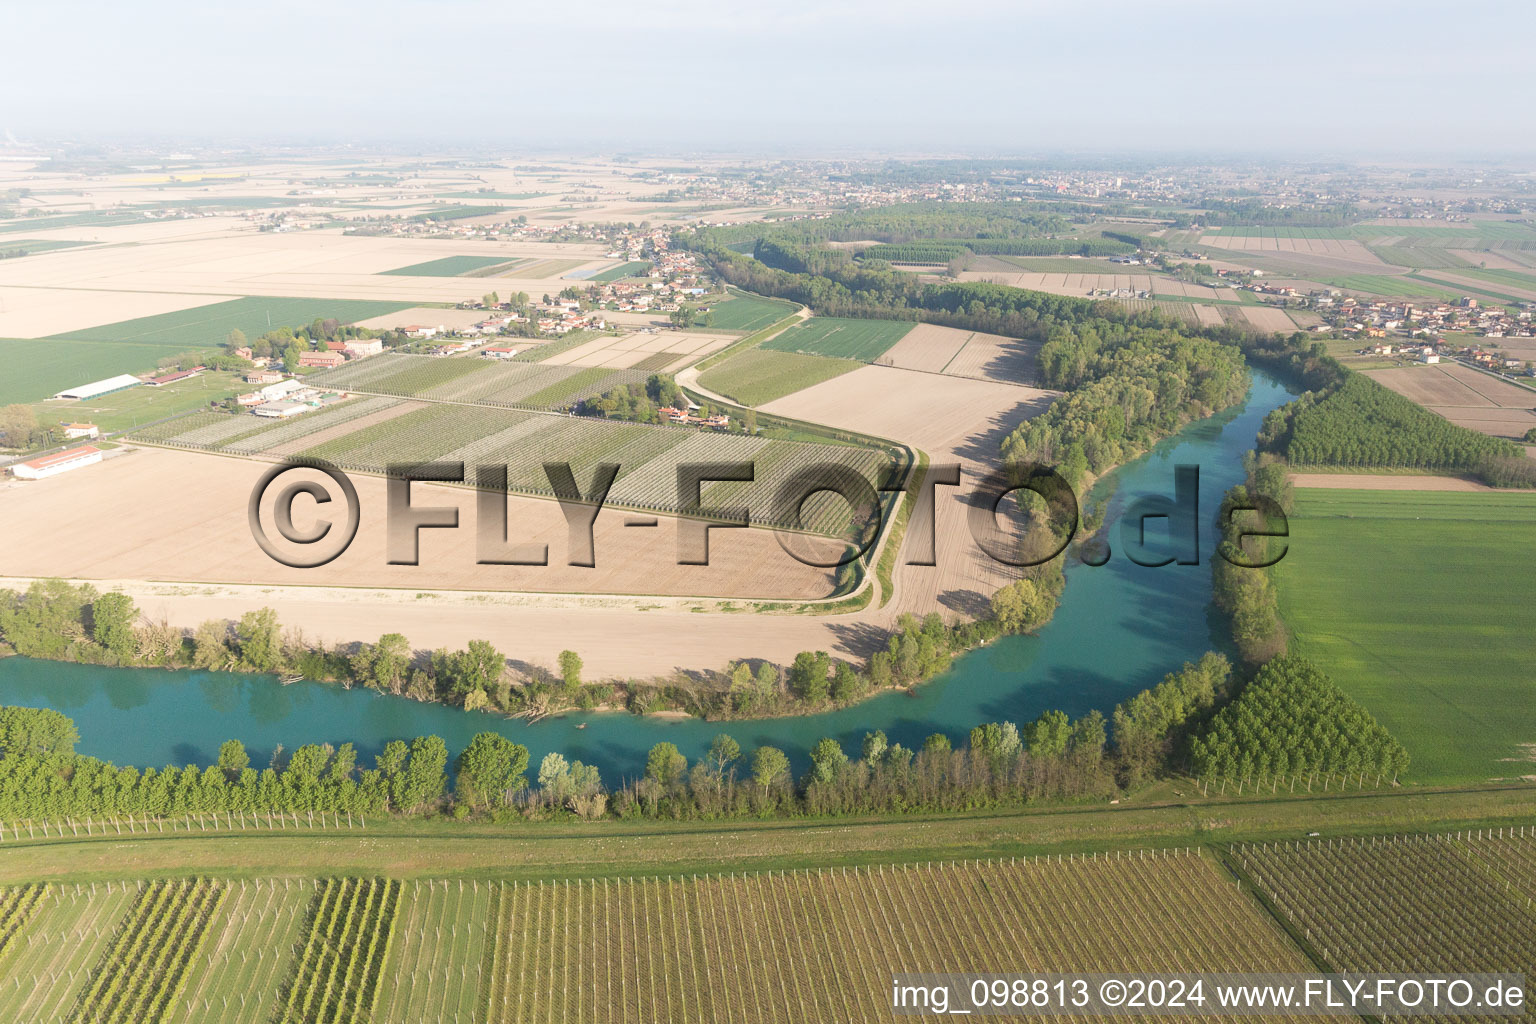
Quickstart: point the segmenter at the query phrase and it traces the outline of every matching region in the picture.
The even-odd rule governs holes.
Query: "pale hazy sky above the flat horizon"
[[[0,130],[488,147],[1536,149],[1536,5],[8,5]]]

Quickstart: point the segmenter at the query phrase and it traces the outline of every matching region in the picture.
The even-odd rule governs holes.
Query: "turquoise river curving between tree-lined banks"
[[[55,708],[80,728],[81,754],[120,765],[212,763],[218,745],[240,738],[257,765],[276,745],[352,742],[372,763],[384,743],[441,735],[456,754],[475,732],[495,729],[528,746],[531,763],[550,751],[602,769],[610,785],[633,778],[651,745],[671,740],[693,760],[717,732],[743,749],[783,748],[797,768],[823,737],[856,754],[863,734],[885,729],[892,742],[919,746],[931,732],[963,740],[982,722],[1023,725],[1060,708],[1077,717],[1106,715],[1124,697],[1226,642],[1210,611],[1210,563],[1221,494],[1243,479],[1241,456],[1260,422],[1290,393],[1253,373],[1247,399],[1190,424],[1146,456],[1117,470],[1107,505],[1112,557],[1103,567],[1074,562],[1055,617],[1037,636],[1005,637],[957,659],[915,694],[891,692],[819,715],[750,722],[637,717],[622,712],[567,714],[536,725],[444,705],[324,683],[283,686],[266,676],[115,669],[0,659],[0,703]],[[1177,465],[1200,467],[1200,565],[1149,568],[1123,551],[1117,517],[1141,494],[1174,494]],[[1154,533],[1149,530],[1149,534]],[[578,728],[585,726],[585,728]]]

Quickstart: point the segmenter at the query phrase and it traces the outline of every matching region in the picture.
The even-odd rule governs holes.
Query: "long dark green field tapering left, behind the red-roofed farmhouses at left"
[[[224,342],[224,336],[240,329],[247,336],[264,335],[275,327],[303,327],[319,318],[333,318],[352,324],[369,316],[381,316],[410,309],[410,302],[376,302],[372,299],[301,299],[301,298],[244,298],[212,302],[175,313],[140,316],[103,327],[74,330],[57,338],[71,341],[134,341],[154,344],[174,352],[212,348]],[[104,373],[100,376],[111,376]]]

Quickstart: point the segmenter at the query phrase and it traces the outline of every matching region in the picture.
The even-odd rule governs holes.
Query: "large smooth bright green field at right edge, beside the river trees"
[[[1531,774],[1533,527],[1531,493],[1296,491],[1293,649],[1402,742],[1413,781]]]

